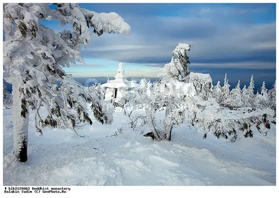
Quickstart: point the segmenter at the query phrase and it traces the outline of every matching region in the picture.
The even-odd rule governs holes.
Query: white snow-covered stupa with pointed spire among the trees
[[[117,70],[114,80],[107,80],[107,83],[101,85],[101,87],[107,87],[105,92],[105,100],[119,101],[124,92],[133,90],[137,87],[135,80],[127,80],[125,70],[123,69],[123,63],[119,63],[119,69]]]

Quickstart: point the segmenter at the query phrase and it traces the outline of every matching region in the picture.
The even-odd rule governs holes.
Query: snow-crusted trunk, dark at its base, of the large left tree
[[[13,154],[20,162],[27,161],[27,144],[28,144],[28,123],[29,112],[24,111],[22,115],[22,95],[19,91],[19,86],[13,83]]]

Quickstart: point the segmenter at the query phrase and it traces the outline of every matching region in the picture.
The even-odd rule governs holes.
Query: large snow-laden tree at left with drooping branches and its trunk
[[[13,153],[27,161],[29,107],[36,111],[36,130],[56,127],[57,120],[75,130],[76,121],[92,124],[86,104],[91,102],[96,120],[109,123],[98,98],[92,98],[80,83],[61,66],[69,66],[80,57],[82,44],[88,44],[90,28],[100,36],[104,32],[128,34],[130,26],[116,13],[95,13],[77,3],[5,3],[3,4],[3,71],[13,84]],[[73,24],[73,31],[56,34],[41,21],[59,20]],[[59,85],[57,84],[59,81]],[[40,108],[47,108],[47,116]],[[70,106],[70,110],[68,109]]]

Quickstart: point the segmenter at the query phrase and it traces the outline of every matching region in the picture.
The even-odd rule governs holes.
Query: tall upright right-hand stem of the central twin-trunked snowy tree
[[[188,83],[190,81],[188,78],[190,75],[188,69],[190,61],[187,51],[190,51],[190,45],[179,43],[172,52],[171,62],[165,64],[163,75],[159,74],[159,76],[162,77],[160,78],[160,87],[163,88],[163,92],[160,94],[160,99],[165,102],[164,126],[163,132],[160,132],[160,139],[163,137],[163,139],[166,139],[167,141],[171,141],[172,129],[185,120],[184,108],[186,108],[186,92],[196,92],[194,87],[192,88],[193,90],[187,89],[186,92],[183,92],[185,90],[184,88],[188,87],[186,86],[186,82]],[[210,83],[212,83],[212,81]],[[191,85],[193,85],[193,83],[191,83]],[[179,88],[177,89],[177,87]],[[149,125],[151,125],[151,123],[149,123]],[[156,134],[158,133],[158,130],[153,128],[151,129],[151,132]]]

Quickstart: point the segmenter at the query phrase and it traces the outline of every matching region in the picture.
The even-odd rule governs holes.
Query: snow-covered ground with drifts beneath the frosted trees
[[[162,113],[162,112],[161,112]],[[11,110],[3,110],[3,185],[276,185],[276,129],[236,143],[207,136],[186,124],[172,141],[152,141],[114,113],[112,125],[93,122],[77,132],[44,130],[29,123],[28,161],[13,150]],[[91,115],[91,118],[93,116]],[[122,133],[115,135],[123,127]]]

